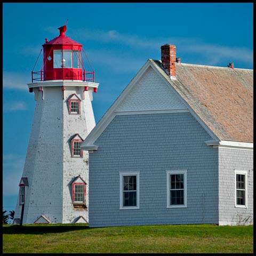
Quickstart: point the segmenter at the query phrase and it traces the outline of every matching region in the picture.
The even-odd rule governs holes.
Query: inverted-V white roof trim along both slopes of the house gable
[[[189,104],[181,97],[181,95],[174,89],[174,87],[171,85],[170,81],[164,77],[163,74],[159,72],[159,70],[155,67],[154,62],[152,60],[147,60],[145,65],[139,70],[137,75],[132,79],[132,81],[125,87],[123,92],[119,95],[119,97],[116,99],[116,101],[113,103],[113,105],[107,110],[105,115],[100,119],[99,123],[94,126],[93,130],[89,133],[89,135],[86,137],[84,142],[81,144],[81,148],[83,150],[97,150],[97,149],[89,149],[90,147],[95,147],[94,142],[100,137],[101,133],[106,129],[108,124],[113,120],[113,118],[117,115],[115,112],[115,109],[117,109],[118,105],[123,101],[123,99],[129,94],[129,92],[132,90],[133,86],[139,81],[141,76],[145,73],[145,71],[149,68],[153,68],[156,73],[162,77],[163,81],[173,90],[173,92],[181,99],[183,103],[188,107],[191,115],[195,117],[195,119],[201,124],[204,129],[206,130],[209,135],[215,139],[219,140],[219,138],[210,130],[210,128],[202,121],[202,119],[195,113],[195,111],[189,106]],[[167,74],[166,74],[167,76]],[[119,113],[118,113],[119,114]]]

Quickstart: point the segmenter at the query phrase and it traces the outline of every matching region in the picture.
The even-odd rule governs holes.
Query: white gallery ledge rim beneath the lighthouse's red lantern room
[[[36,82],[36,83],[29,83],[29,88],[34,87],[52,87],[52,86],[89,86],[93,88],[98,88],[99,83],[93,83],[93,82],[84,82],[81,80],[47,80],[42,82]]]

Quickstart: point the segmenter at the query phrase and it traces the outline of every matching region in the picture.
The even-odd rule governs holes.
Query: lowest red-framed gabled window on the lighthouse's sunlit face
[[[74,206],[86,206],[86,182],[80,175],[72,182],[72,202]]]

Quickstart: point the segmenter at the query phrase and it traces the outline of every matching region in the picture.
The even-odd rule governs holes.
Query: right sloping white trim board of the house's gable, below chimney
[[[171,90],[177,95],[177,97],[179,97],[179,99],[185,104],[185,106],[187,106],[187,108],[190,111],[190,114],[193,115],[195,117],[195,119],[197,120],[197,122],[199,124],[202,125],[202,127],[204,128],[204,130],[212,137],[212,139],[214,140],[219,140],[219,138],[217,137],[217,135],[215,135],[215,133],[209,128],[209,126],[207,126],[204,121],[196,114],[196,112],[190,107],[190,105],[187,103],[187,101],[185,99],[183,99],[181,97],[181,95],[175,90],[175,88],[172,86],[172,84],[170,83],[170,81],[168,81],[166,79],[166,77],[164,77],[159,70],[157,69],[158,67],[155,67],[155,64],[153,63],[153,65],[151,65],[151,67],[153,67],[153,69],[156,71],[156,73],[163,79],[163,81],[171,88]],[[166,74],[166,76],[168,76]]]

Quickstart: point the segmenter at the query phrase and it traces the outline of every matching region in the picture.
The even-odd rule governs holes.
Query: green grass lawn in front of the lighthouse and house
[[[253,226],[3,225],[3,253],[253,253]]]

